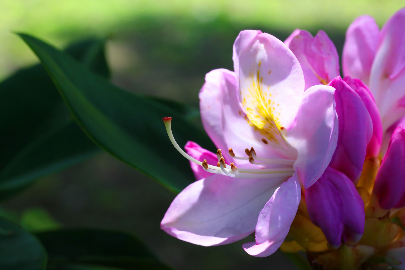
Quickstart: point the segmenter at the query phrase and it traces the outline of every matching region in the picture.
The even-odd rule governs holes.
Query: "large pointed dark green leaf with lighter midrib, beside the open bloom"
[[[188,160],[171,145],[162,118],[173,117],[173,134],[179,145],[192,140],[215,151],[202,129],[168,106],[112,85],[50,45],[26,34],[20,36],[96,144],[174,191],[195,180]]]

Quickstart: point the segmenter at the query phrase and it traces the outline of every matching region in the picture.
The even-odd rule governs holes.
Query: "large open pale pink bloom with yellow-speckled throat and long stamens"
[[[243,248],[264,257],[288,234],[301,188],[324,174],[337,144],[346,142],[338,138],[335,88],[315,85],[304,91],[301,66],[280,40],[242,31],[233,60],[235,72],[209,72],[200,91],[204,128],[222,151],[189,142],[185,153],[171,134],[171,119],[164,119],[175,147],[197,165],[192,168],[199,180],[179,193],[161,227],[204,246],[256,231],[256,242]]]

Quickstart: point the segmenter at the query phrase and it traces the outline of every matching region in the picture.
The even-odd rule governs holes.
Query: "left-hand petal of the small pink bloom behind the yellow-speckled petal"
[[[297,57],[303,69],[305,90],[313,85],[320,84],[320,77],[315,69],[319,69],[319,65],[323,66],[322,56],[315,53],[311,48],[312,40],[313,36],[311,33],[306,30],[300,30],[299,34],[292,38],[289,43],[290,50]],[[309,59],[315,65],[314,67],[312,67]]]

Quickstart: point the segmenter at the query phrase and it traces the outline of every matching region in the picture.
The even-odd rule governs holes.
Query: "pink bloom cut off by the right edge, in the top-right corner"
[[[405,115],[405,8],[381,31],[373,17],[362,15],[346,32],[343,73],[369,86],[382,118],[385,153],[392,131]],[[387,132],[391,128],[390,132]]]

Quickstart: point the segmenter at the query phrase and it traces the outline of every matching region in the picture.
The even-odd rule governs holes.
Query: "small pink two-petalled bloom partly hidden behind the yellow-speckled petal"
[[[315,37],[306,30],[296,29],[284,44],[297,57],[305,78],[305,89],[317,84],[327,85],[339,76],[339,55],[335,44],[320,30]]]

